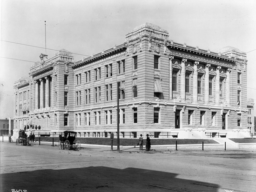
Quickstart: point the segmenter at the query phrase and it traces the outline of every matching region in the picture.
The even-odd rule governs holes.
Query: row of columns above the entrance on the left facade
[[[44,93],[44,83],[46,80],[46,93]],[[39,91],[40,83],[40,91]],[[46,106],[44,106],[44,98]],[[40,102],[39,102],[40,101]],[[40,106],[39,106],[40,104]],[[49,107],[50,106],[50,81],[49,77],[45,77],[35,81],[35,109]]]

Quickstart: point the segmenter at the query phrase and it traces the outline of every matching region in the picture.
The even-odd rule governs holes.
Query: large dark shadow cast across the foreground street
[[[0,175],[1,192],[217,192],[219,185],[149,169],[90,166]],[[26,191],[24,191],[26,190]]]

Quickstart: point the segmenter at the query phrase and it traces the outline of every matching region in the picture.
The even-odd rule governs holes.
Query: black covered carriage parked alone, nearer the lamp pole
[[[70,150],[74,148],[76,151],[79,151],[81,148],[80,141],[75,141],[75,136],[77,132],[74,131],[64,131],[64,137],[62,135],[59,135],[59,149],[66,149]]]

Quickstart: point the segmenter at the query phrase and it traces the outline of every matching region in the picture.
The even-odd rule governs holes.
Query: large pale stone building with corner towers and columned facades
[[[125,38],[75,62],[64,49],[41,54],[29,79],[14,83],[14,129],[116,136],[119,99],[120,138],[250,136],[246,53],[176,43],[149,23]]]

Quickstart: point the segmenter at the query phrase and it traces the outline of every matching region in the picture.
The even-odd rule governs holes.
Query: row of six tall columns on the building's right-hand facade
[[[174,56],[169,56],[169,99],[172,98],[172,60],[174,59]],[[185,63],[187,62],[187,59],[182,59],[181,62],[181,99],[186,100],[186,93],[185,93]],[[198,101],[198,93],[197,93],[197,78],[198,78],[198,72],[197,72],[197,66],[199,65],[199,61],[194,62],[194,72],[193,72],[193,102]],[[210,64],[206,64],[205,66],[205,77],[204,77],[204,102],[209,103],[209,67]],[[215,81],[215,103],[220,102],[220,69],[221,66],[217,66],[216,68],[216,81]],[[231,69],[229,68],[226,72],[227,78],[226,78],[226,102],[229,104],[229,93],[230,93],[230,73]]]

